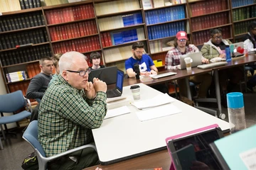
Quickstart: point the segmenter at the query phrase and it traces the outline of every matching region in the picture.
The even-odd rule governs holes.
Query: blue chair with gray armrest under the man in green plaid
[[[87,147],[92,147],[97,152],[97,149],[94,145],[88,144],[88,145],[83,145],[81,147],[77,147],[77,148],[74,148],[74,149],[70,149],[70,150],[68,150],[66,152],[62,152],[60,154],[56,154],[52,157],[46,157],[46,153],[43,151],[43,147],[40,144],[40,142],[38,141],[38,120],[33,120],[31,123],[29,123],[28,128],[26,128],[26,131],[23,133],[22,137],[35,150],[36,156],[37,156],[37,159],[38,159],[38,167],[39,167],[40,170],[41,169],[45,170],[47,168],[47,163],[52,161],[53,159],[63,157],[67,154],[71,154],[73,152],[85,149]]]

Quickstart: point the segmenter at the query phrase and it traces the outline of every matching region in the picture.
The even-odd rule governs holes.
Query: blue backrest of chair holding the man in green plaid
[[[33,120],[29,123],[22,137],[30,143],[33,149],[37,149],[43,157],[46,157],[46,153],[43,151],[43,147],[38,141],[38,120]]]

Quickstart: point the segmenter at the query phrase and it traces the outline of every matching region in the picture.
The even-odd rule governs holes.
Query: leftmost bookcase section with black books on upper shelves
[[[1,14],[1,74],[6,91],[13,92],[21,89],[25,96],[30,79],[41,71],[38,60],[45,55],[52,55],[43,10],[29,8]],[[25,46],[21,47],[22,45]],[[6,74],[18,71],[26,71],[28,74],[26,79],[9,82]]]

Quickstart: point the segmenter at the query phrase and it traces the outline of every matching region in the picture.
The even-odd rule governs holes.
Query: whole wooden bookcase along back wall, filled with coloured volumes
[[[59,52],[76,50],[88,59],[91,52],[100,52],[102,64],[125,71],[124,61],[137,41],[162,63],[157,65],[161,71],[167,42],[179,30],[186,30],[199,47],[210,39],[210,28],[223,28],[223,38],[235,42],[256,21],[255,9],[255,0],[88,0],[5,12],[0,16],[0,61],[6,90],[25,94],[40,72],[38,60]],[[26,80],[8,82],[6,73],[21,70],[28,72]]]

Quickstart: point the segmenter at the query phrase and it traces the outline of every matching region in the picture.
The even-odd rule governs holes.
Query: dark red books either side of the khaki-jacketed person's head
[[[222,27],[223,39],[230,38],[230,27]],[[200,32],[193,33],[193,44],[202,45],[204,42],[210,40],[210,30],[203,30]]]

